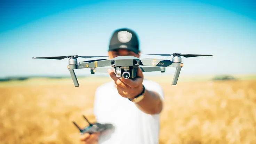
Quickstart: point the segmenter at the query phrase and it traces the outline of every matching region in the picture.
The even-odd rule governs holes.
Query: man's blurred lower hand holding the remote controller
[[[81,135],[80,141],[82,144],[98,144],[99,133]]]

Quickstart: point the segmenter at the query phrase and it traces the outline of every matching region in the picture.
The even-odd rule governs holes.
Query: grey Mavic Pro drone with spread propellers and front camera
[[[125,79],[134,79],[136,78],[137,69],[139,66],[148,66],[148,67],[140,67],[143,72],[153,72],[153,71],[161,71],[165,72],[165,67],[175,67],[175,74],[173,77],[173,81],[171,85],[176,85],[179,73],[181,72],[181,68],[183,67],[182,58],[183,57],[198,57],[198,56],[214,56],[214,55],[196,55],[196,54],[140,54],[140,55],[159,55],[159,56],[173,56],[172,61],[169,59],[157,59],[157,58],[137,58],[134,56],[117,56],[112,59],[96,59],[90,61],[82,61],[80,63],[77,62],[77,58],[92,58],[92,57],[109,57],[109,56],[57,56],[57,57],[33,57],[33,58],[46,58],[46,59],[64,59],[69,58],[69,64],[67,65],[67,69],[70,72],[71,78],[73,80],[74,86],[79,87],[79,83],[77,77],[74,73],[75,69],[85,69],[90,68],[91,74],[97,71],[98,67],[106,67],[111,66],[115,70],[115,74],[117,77],[123,77]],[[105,70],[104,70],[105,72]]]

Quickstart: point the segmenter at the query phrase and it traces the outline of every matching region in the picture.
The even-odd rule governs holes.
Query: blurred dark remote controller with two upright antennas
[[[89,123],[89,126],[87,127],[84,127],[84,128],[80,128],[77,123],[74,123],[74,125],[79,129],[80,131],[80,134],[83,135],[85,133],[89,133],[89,134],[93,134],[93,133],[98,133],[98,132],[102,132],[104,130],[107,130],[107,129],[111,129],[113,128],[113,125],[110,124],[110,123],[105,123],[105,124],[101,124],[101,123],[90,123],[87,118],[85,117],[85,115],[83,115],[83,118],[85,118],[85,120]]]

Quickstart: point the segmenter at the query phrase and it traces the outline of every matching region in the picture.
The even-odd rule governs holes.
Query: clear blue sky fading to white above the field
[[[68,59],[32,57],[106,55],[121,27],[137,32],[142,53],[214,54],[183,58],[181,74],[256,73],[255,9],[254,1],[1,1],[0,77],[69,75]]]

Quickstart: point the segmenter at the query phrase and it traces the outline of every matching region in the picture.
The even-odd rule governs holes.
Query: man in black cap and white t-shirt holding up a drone
[[[118,29],[112,34],[108,55],[139,57],[139,41],[130,29]],[[83,144],[158,144],[159,114],[163,107],[161,86],[143,77],[138,68],[134,80],[118,78],[99,86],[95,93],[94,115],[99,123],[111,123],[114,128],[101,134],[84,134]]]

